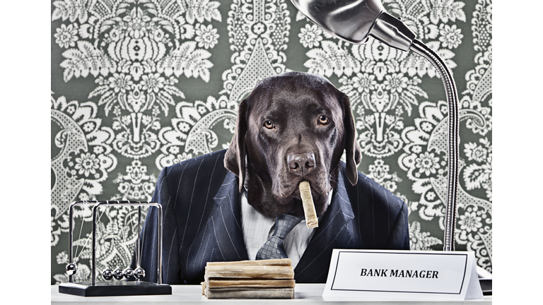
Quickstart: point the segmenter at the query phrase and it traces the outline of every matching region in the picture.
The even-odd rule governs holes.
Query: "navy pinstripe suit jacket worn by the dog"
[[[226,150],[165,167],[153,201],[163,207],[163,282],[199,284],[208,261],[247,260],[238,177],[223,166]],[[407,206],[358,172],[340,170],[332,202],[296,266],[296,282],[326,282],[332,249],[409,249]],[[142,234],[144,280],[157,279],[156,208]]]

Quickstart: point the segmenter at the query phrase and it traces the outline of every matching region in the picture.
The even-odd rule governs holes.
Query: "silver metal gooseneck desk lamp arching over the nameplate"
[[[458,95],[452,75],[443,59],[416,40],[415,33],[401,20],[385,12],[379,0],[291,0],[294,6],[320,28],[353,44],[364,44],[369,37],[389,47],[408,51],[431,61],[447,93],[449,116],[448,198],[445,212],[443,251],[455,249],[456,202],[458,186]]]

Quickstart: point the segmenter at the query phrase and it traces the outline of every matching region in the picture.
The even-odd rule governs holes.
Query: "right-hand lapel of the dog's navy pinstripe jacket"
[[[343,173],[339,171],[332,202],[294,270],[297,282],[326,282],[328,268],[322,266],[329,265],[332,249],[349,249],[354,245],[353,218]]]

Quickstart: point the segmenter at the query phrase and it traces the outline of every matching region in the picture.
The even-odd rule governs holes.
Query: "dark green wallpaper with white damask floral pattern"
[[[492,3],[384,0],[445,59],[460,98],[455,243],[492,270]],[[443,249],[445,90],[414,52],[353,45],[289,0],[57,0],[51,5],[51,282],[65,282],[69,203],[148,201],[160,169],[226,148],[259,79],[326,76],[349,95],[358,169],[409,207],[411,249]],[[97,270],[129,265],[136,211],[100,210]],[[90,277],[92,212],[74,214],[76,280]]]

